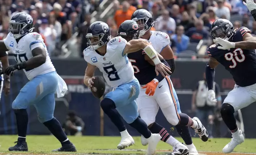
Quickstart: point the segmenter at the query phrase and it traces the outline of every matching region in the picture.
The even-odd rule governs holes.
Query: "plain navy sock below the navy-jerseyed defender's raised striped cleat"
[[[178,134],[181,136],[181,138],[184,140],[186,145],[191,145],[192,142],[192,138],[191,138],[191,134],[190,134],[190,130],[188,128],[188,126],[182,126],[182,125],[176,125],[176,130],[178,132]]]

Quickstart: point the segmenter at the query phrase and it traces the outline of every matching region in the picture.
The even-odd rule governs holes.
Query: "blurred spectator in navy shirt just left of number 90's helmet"
[[[209,32],[204,28],[204,22],[202,20],[197,20],[195,27],[188,29],[186,36],[190,38],[190,42],[199,43],[200,40],[208,39]]]

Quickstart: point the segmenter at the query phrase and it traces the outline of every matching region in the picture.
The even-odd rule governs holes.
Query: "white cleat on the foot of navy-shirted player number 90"
[[[237,136],[232,136],[231,141],[227,144],[223,149],[223,153],[231,153],[236,146],[242,144],[244,142],[244,136],[242,135],[242,131],[239,130],[239,134]]]

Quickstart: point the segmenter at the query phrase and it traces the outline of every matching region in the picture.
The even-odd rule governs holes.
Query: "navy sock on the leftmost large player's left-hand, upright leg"
[[[15,109],[16,123],[18,130],[18,141],[26,141],[27,124],[29,121],[26,109]]]

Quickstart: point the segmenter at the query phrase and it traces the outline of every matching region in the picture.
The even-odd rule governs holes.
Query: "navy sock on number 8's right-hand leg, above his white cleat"
[[[147,124],[140,117],[137,117],[132,123],[129,124],[131,127],[136,129],[140,134],[142,134],[145,138],[149,138],[151,136],[150,130],[147,128]]]

